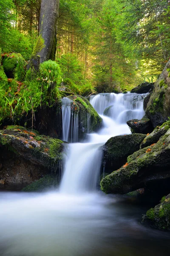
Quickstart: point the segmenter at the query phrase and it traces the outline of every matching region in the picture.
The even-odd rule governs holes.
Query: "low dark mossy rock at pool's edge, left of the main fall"
[[[48,189],[55,189],[59,186],[59,177],[54,175],[45,175],[30,185],[22,189],[24,192],[42,192]]]

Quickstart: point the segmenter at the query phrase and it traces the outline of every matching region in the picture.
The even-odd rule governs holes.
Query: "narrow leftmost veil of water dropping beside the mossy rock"
[[[69,131],[71,122],[71,100],[62,99],[62,140],[69,142]]]

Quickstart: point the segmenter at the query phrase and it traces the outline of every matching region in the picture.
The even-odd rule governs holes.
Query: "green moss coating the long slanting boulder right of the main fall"
[[[160,138],[153,146],[142,148],[129,157],[127,157],[127,165],[117,171],[112,172],[101,181],[101,189],[105,193],[127,193],[133,188],[133,181],[137,179],[140,170],[147,170],[156,163],[160,165],[161,152],[168,152],[168,136],[170,130]],[[148,150],[149,149],[149,150]]]

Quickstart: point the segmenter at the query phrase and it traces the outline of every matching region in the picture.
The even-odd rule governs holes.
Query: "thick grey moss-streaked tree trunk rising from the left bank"
[[[48,61],[54,41],[59,11],[59,0],[42,0],[40,12],[39,35],[44,40],[45,47],[38,53],[40,63]]]

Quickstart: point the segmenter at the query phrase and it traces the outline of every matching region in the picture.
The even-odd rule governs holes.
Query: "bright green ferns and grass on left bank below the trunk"
[[[19,56],[10,58],[6,56],[6,67],[11,70],[15,69],[15,79],[23,81],[25,76],[25,69],[23,67],[23,59]],[[14,62],[11,64],[11,60]],[[4,62],[5,62],[4,60]],[[3,63],[4,63],[3,62]],[[23,70],[23,73],[21,72]],[[52,106],[56,100],[60,99],[58,86],[61,82],[61,70],[59,65],[55,61],[45,61],[40,65],[40,74],[34,79],[30,78],[30,70],[27,71],[26,80],[15,81],[14,79],[6,79],[3,70],[3,81],[0,82],[0,121],[5,117],[16,119],[20,118],[23,114],[32,113],[34,117],[34,111],[38,107]]]

